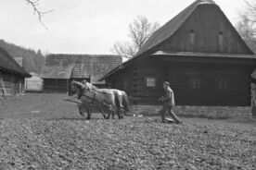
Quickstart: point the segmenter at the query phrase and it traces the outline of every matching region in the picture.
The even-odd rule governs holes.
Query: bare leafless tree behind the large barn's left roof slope
[[[158,22],[150,23],[144,16],[138,16],[133,23],[129,24],[127,42],[115,42],[111,51],[122,57],[132,58],[141,49],[147,39],[160,28]]]

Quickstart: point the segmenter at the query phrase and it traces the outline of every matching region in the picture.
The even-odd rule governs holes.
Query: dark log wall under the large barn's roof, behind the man
[[[250,105],[250,71],[246,66],[160,62],[147,58],[131,69],[130,95],[144,99],[134,103],[158,103],[157,99],[163,95],[162,82],[168,80],[179,105]],[[147,77],[156,78],[155,88],[146,87]],[[191,79],[199,79],[198,89],[193,88]],[[218,88],[220,79],[226,81],[224,90]],[[122,79],[115,83],[119,84],[116,88],[122,89]]]

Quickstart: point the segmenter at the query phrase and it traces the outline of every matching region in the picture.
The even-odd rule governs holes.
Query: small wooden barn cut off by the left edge
[[[24,79],[28,77],[31,75],[0,47],[0,95],[21,93],[24,90]]]

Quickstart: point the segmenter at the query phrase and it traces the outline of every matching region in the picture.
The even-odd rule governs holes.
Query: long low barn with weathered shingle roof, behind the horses
[[[47,55],[43,67],[44,91],[68,91],[72,79],[105,87],[100,77],[122,64],[119,55]]]

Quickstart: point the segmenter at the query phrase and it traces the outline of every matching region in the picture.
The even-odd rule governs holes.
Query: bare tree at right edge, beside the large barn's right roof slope
[[[237,30],[256,52],[256,3],[244,0],[244,10],[238,14]]]

